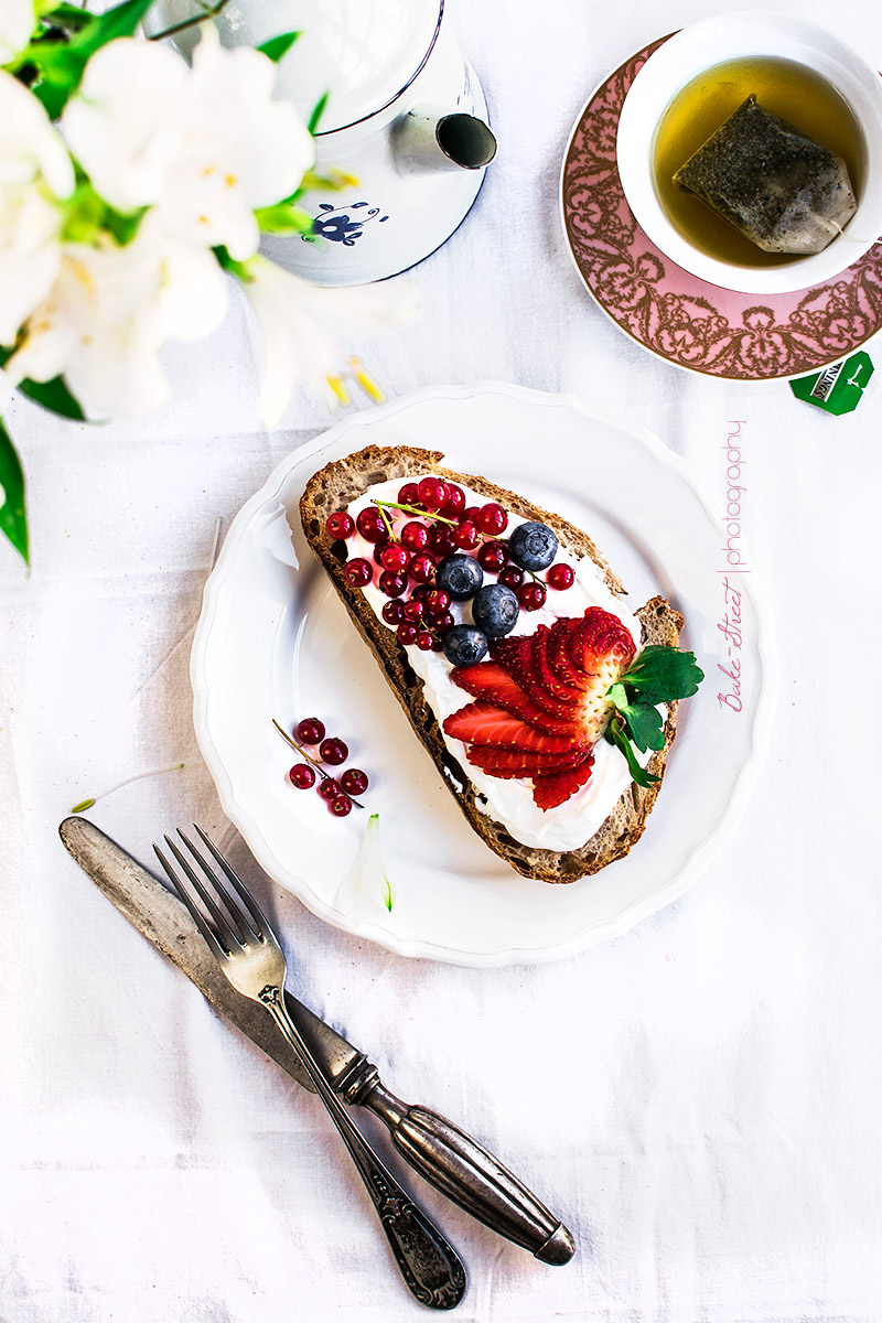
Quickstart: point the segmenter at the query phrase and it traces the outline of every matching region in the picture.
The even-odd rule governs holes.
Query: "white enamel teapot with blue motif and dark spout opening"
[[[164,26],[194,0],[165,0]],[[316,169],[358,180],[305,193],[309,235],[274,235],[266,251],[319,284],[403,271],[450,238],[496,153],[480,85],[444,17],[444,0],[227,0],[223,45],[300,37],[279,62],[276,95],[305,119],[327,94]],[[192,29],[179,45],[189,52]]]

